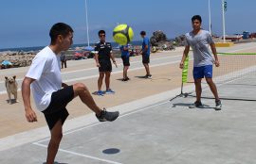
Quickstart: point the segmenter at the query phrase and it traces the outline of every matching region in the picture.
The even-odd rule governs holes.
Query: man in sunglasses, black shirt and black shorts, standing
[[[95,45],[95,60],[97,67],[99,67],[100,76],[98,78],[98,95],[103,95],[103,91],[101,91],[102,81],[105,76],[105,84],[106,84],[106,94],[114,94],[115,91],[111,90],[110,85],[110,74],[112,72],[112,64],[110,58],[112,59],[113,63],[118,67],[115,57],[112,54],[112,46],[110,42],[105,41],[105,31],[100,30],[99,33],[100,41]]]

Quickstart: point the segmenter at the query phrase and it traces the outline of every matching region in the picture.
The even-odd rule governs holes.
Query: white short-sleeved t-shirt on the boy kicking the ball
[[[33,58],[26,76],[35,79],[31,90],[37,109],[45,110],[50,104],[51,93],[62,88],[60,57],[46,46]]]

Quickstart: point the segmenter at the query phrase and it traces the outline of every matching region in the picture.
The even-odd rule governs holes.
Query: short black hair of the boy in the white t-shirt
[[[70,32],[74,32],[70,25],[66,25],[64,23],[52,25],[49,32],[51,43],[55,42],[59,35],[65,38]]]

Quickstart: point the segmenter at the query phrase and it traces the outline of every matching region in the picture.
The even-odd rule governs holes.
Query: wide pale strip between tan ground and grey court
[[[193,90],[193,85],[184,87],[184,90]],[[135,100],[129,103],[124,103],[122,105],[116,107],[109,107],[108,111],[119,111],[120,117],[121,115],[125,115],[128,112],[132,112],[137,110],[137,108],[149,107],[154,104],[158,104],[164,100],[170,99],[175,95],[180,93],[180,88],[175,90],[168,90],[165,92],[161,92],[155,95],[151,95],[145,98],[141,98],[139,100]],[[64,123],[64,135],[72,133],[74,129],[84,128],[85,126],[93,126],[92,123],[100,124],[94,113],[86,114],[81,117],[77,117],[74,119],[67,120]],[[12,136],[8,136],[5,138],[0,139],[0,151],[8,150],[10,148],[15,148],[21,146],[26,143],[34,142],[36,140],[46,141],[49,137],[48,127],[39,127],[36,129],[28,130],[26,132],[18,133]],[[47,138],[47,139],[46,139]]]

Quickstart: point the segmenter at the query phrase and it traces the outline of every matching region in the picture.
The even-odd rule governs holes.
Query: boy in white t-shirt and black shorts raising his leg
[[[30,87],[36,107],[46,117],[51,134],[46,164],[53,164],[63,137],[63,124],[68,116],[65,107],[73,98],[79,96],[82,103],[96,113],[100,122],[116,120],[119,112],[101,110],[84,84],[76,83],[68,86],[63,83],[58,54],[66,51],[73,43],[73,29],[69,25],[58,23],[51,27],[49,36],[50,45],[34,57],[23,80],[22,96],[28,122],[37,122],[36,113],[30,105]]]

